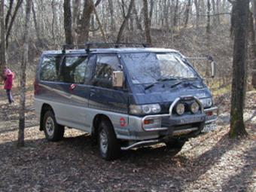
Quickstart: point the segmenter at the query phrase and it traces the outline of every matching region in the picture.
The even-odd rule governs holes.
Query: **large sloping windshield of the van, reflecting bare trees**
[[[133,84],[154,84],[169,79],[198,78],[178,53],[123,53]]]

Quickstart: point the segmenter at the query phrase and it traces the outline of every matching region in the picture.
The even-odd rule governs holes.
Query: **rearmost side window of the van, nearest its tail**
[[[60,56],[44,56],[40,72],[42,81],[58,81],[60,59]]]

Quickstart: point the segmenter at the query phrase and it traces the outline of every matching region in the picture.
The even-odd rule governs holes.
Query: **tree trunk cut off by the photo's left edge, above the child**
[[[0,75],[0,81],[4,78],[4,68],[6,66],[6,58],[5,58],[5,52],[6,52],[6,47],[5,47],[5,0],[1,0],[1,7],[0,7],[0,26],[1,26],[1,44],[0,44],[0,70],[1,70],[1,75]]]

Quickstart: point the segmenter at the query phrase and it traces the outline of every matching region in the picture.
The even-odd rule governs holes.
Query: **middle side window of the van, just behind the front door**
[[[84,84],[87,69],[87,56],[66,56],[63,59],[60,81],[66,83]]]

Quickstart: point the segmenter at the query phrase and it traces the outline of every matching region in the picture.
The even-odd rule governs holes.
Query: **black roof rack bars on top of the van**
[[[75,47],[83,47],[87,53],[90,52],[90,47],[126,47],[126,46],[142,46],[148,47],[150,44],[147,43],[86,43],[86,44],[64,44],[62,46],[62,53],[66,53],[66,49],[74,49]]]

